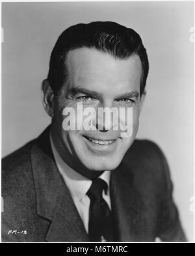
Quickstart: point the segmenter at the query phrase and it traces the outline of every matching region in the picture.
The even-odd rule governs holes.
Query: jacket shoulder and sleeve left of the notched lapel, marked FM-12
[[[48,135],[44,134],[45,131],[2,160],[1,237],[3,242],[45,240],[48,220],[40,218],[37,212],[38,197],[32,171],[33,159],[36,158],[36,154],[42,154],[39,160],[42,159],[44,151],[41,147],[47,147],[44,144],[45,141],[48,142]],[[27,231],[27,235],[9,233],[16,229],[19,232]]]

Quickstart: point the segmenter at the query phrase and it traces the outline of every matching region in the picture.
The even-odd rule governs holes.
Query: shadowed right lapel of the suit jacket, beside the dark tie
[[[122,162],[110,176],[110,198],[118,240],[144,240],[145,220],[142,215],[142,197],[138,193],[131,168]]]

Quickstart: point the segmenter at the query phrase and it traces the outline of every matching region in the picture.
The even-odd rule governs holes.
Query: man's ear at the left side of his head
[[[42,104],[44,109],[50,117],[53,117],[53,97],[54,93],[49,85],[49,81],[45,79],[42,82]]]

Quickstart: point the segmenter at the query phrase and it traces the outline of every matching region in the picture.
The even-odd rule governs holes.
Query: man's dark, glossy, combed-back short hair
[[[119,59],[127,59],[137,54],[142,63],[140,95],[144,92],[149,63],[146,49],[138,33],[115,22],[96,21],[73,25],[59,36],[51,53],[47,76],[55,94],[59,92],[68,76],[66,66],[68,51],[82,47],[96,48]]]

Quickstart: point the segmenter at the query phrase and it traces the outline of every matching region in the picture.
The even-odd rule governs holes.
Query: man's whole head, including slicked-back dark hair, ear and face
[[[68,149],[88,170],[115,169],[135,139],[147,76],[146,50],[133,29],[109,21],[66,29],[51,53],[42,85],[44,107],[52,117],[51,134],[62,159]],[[64,130],[63,109],[72,107],[77,122],[78,102],[96,111],[132,107],[133,134],[122,137],[120,130],[107,130],[98,118],[93,120],[97,130]]]

